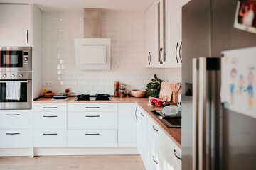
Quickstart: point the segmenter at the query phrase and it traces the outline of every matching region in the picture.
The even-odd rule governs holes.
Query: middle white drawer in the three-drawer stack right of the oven
[[[66,129],[67,113],[36,112],[33,114],[34,129]]]

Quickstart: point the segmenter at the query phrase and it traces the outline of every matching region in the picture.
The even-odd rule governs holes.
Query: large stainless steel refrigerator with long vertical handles
[[[256,46],[256,34],[234,28],[237,5],[238,0],[191,0],[182,8],[183,170],[256,169],[256,119],[220,103],[221,52]],[[199,57],[201,62],[193,61]],[[186,93],[189,84],[193,96]],[[205,113],[203,122],[193,111]]]

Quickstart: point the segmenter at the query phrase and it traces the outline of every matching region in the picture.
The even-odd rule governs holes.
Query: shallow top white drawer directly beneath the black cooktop
[[[87,112],[117,112],[117,103],[78,103],[78,104],[68,104],[68,111],[87,111]]]

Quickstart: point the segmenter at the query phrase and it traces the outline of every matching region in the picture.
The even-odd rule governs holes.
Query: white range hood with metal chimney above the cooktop
[[[102,38],[101,8],[84,8],[84,38],[75,38],[78,69],[110,70],[110,38]]]

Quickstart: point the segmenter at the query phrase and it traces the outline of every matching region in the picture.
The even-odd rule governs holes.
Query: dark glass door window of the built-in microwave
[[[23,67],[22,51],[1,51],[0,52],[1,68],[21,68]]]

